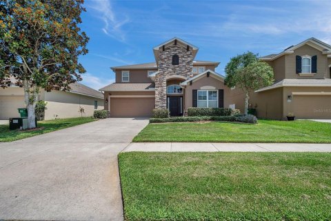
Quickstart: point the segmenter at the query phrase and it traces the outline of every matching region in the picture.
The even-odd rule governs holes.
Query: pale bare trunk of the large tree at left
[[[34,108],[37,104],[37,88],[36,86],[30,91],[30,84],[28,79],[23,80],[24,88],[24,100],[26,102],[26,108],[28,109],[28,128],[36,127],[36,115],[34,113]]]

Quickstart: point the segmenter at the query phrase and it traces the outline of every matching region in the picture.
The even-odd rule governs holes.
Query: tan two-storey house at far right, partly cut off
[[[275,83],[250,93],[258,117],[331,119],[330,45],[310,38],[261,61],[274,69]]]

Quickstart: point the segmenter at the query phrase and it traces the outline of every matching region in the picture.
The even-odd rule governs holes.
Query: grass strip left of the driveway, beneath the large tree
[[[14,140],[21,140],[27,137],[33,137],[41,135],[43,133],[49,133],[52,131],[58,131],[63,128],[70,126],[77,126],[79,124],[86,124],[93,122],[95,119],[92,117],[77,117],[77,118],[66,118],[66,119],[51,119],[46,121],[38,122],[38,127],[44,127],[41,131],[10,131],[9,125],[0,125],[0,142],[12,142]]]

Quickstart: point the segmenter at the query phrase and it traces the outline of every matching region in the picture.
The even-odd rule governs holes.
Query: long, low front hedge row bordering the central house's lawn
[[[202,116],[202,117],[150,118],[150,123],[201,122],[201,121],[236,122],[237,117],[234,117],[234,116]]]

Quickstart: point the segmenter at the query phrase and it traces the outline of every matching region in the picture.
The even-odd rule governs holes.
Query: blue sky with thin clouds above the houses
[[[220,61],[247,50],[268,55],[316,37],[331,44],[331,1],[86,0],[81,29],[90,37],[80,58],[83,84],[114,82],[111,66],[153,62],[152,48],[179,37],[196,59]]]

